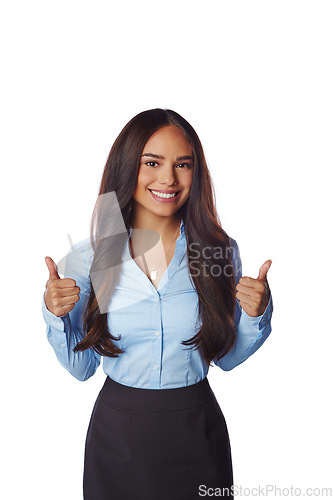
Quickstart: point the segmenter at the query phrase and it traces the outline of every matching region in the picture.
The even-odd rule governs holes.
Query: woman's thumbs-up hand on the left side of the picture
[[[80,300],[80,287],[76,286],[76,281],[72,278],[60,278],[51,257],[45,257],[45,262],[50,273],[45,285],[45,305],[55,316],[65,316]]]

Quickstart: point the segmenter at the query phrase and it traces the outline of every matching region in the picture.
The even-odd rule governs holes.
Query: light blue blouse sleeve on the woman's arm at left
[[[85,244],[84,244],[85,242]],[[73,352],[75,345],[83,338],[83,304],[89,295],[89,266],[87,242],[77,243],[66,256],[64,278],[72,278],[80,287],[80,300],[65,316],[55,316],[46,307],[43,294],[42,313],[49,343],[60,364],[80,381],[85,381],[96,372],[101,356],[93,349]]]

